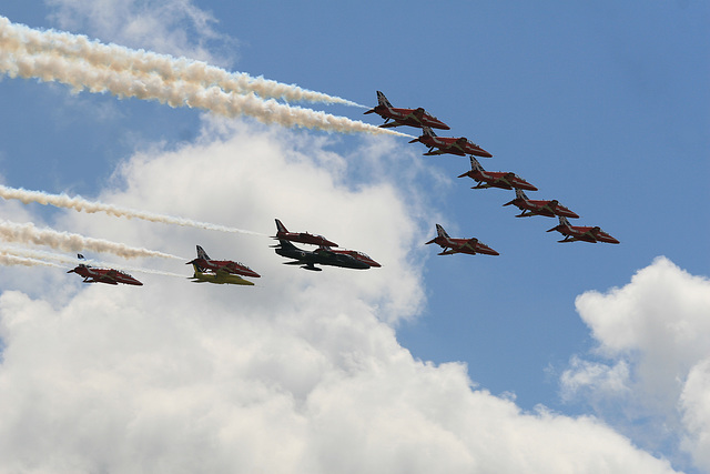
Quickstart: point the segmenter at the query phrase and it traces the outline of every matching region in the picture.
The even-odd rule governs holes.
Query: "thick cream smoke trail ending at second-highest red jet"
[[[57,54],[22,52],[13,54],[9,50],[0,49],[0,73],[11,78],[19,75],[47,82],[61,82],[71,85],[74,92],[87,89],[94,93],[110,92],[119,98],[158,100],[170,107],[199,108],[229,118],[250,115],[262,123],[276,123],[290,128],[305,127],[331,132],[412,137],[345,117],[290,107],[273,99],[262,100],[252,92],[239,95],[226,93],[214,85],[204,88],[184,81],[165,82],[158,75],[139,78],[130,71],[95,68],[83,61],[68,60]]]

